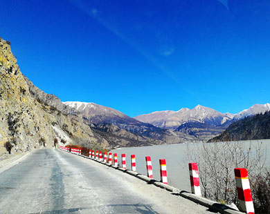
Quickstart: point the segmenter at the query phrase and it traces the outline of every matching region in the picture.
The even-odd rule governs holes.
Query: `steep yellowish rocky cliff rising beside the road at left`
[[[0,75],[0,158],[64,143],[109,145],[82,116],[33,86],[21,74],[10,45],[1,38]]]

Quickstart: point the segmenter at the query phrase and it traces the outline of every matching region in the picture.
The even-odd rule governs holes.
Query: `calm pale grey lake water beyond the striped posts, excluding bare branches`
[[[243,141],[241,143],[249,145],[250,142],[251,144],[260,143],[263,153],[266,153],[267,148],[270,148],[270,139]],[[231,144],[233,144],[233,142],[231,142]],[[156,180],[160,180],[159,159],[166,159],[168,184],[181,190],[190,191],[187,147],[192,149],[195,148],[195,146],[198,146],[198,144],[170,144],[121,148],[111,150],[111,152],[113,154],[117,153],[119,163],[121,163],[121,154],[125,153],[128,169],[131,169],[130,155],[136,155],[136,171],[143,175],[147,175],[145,156],[150,156],[152,159],[153,175]],[[201,144],[199,144],[199,146],[201,146]],[[270,166],[270,157],[267,157],[266,165]]]

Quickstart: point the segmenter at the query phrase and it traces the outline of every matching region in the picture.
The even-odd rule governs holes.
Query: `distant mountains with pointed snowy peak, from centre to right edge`
[[[217,110],[204,106],[195,108],[181,108],[178,111],[165,110],[147,115],[134,117],[139,121],[148,122],[154,126],[168,128],[181,132],[201,141],[208,141],[221,134],[233,122],[244,117],[250,117],[257,113],[270,110],[270,104],[255,104],[251,108],[243,110],[238,114],[219,113]]]

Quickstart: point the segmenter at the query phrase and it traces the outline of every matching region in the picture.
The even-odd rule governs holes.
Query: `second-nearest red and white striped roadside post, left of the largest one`
[[[201,196],[201,186],[199,186],[199,170],[197,163],[189,163],[191,192]]]

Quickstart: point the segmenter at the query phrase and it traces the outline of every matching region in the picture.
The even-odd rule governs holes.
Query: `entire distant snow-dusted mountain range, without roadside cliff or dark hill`
[[[240,113],[231,114],[219,113],[213,108],[197,105],[192,109],[163,110],[132,118],[113,108],[94,103],[66,101],[64,104],[78,110],[100,130],[108,130],[108,126],[117,126],[144,137],[154,137],[161,141],[166,139],[167,143],[183,142],[183,139],[189,142],[208,141],[221,134],[234,121],[270,110],[270,104],[255,104]]]

